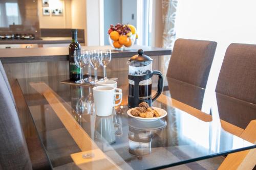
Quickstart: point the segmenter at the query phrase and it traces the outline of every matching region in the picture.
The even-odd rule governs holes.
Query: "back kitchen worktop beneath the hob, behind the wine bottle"
[[[71,37],[40,37],[40,39],[26,40],[26,39],[7,39],[0,40],[0,44],[61,44],[70,43]],[[84,43],[84,40],[78,38],[79,43]]]

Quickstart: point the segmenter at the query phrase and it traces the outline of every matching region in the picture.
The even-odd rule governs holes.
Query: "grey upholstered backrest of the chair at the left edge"
[[[0,72],[0,167],[32,169],[26,140],[10,93],[5,72]]]

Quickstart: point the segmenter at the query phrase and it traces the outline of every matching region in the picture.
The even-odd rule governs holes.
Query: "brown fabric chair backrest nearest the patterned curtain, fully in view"
[[[166,76],[205,88],[216,46],[214,41],[177,39]]]

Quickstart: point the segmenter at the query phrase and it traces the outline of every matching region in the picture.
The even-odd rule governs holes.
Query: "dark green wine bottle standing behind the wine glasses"
[[[77,29],[72,29],[72,42],[69,45],[69,79],[71,81],[80,80],[80,68],[76,66],[74,61],[74,51],[81,49],[81,45],[77,41]]]

